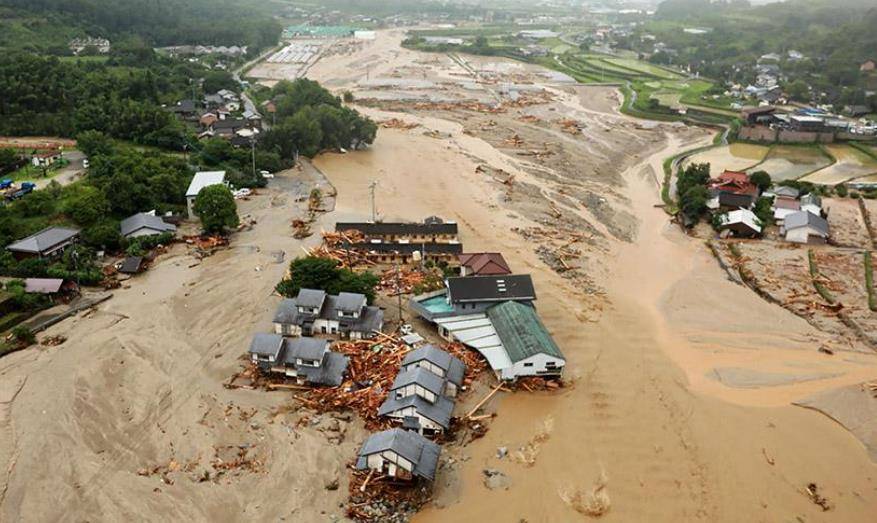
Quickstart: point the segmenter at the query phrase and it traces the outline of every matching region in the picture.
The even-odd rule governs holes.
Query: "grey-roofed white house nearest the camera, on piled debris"
[[[356,460],[358,470],[371,469],[396,479],[435,479],[441,447],[416,432],[390,429],[369,436]]]

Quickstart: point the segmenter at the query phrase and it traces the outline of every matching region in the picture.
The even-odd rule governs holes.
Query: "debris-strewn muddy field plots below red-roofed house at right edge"
[[[786,309],[806,318],[818,329],[848,339],[861,337],[841,318],[865,332],[877,328],[877,314],[868,308],[864,258],[861,253],[819,248],[819,280],[842,306],[832,306],[813,287],[807,248],[773,242],[741,242],[742,267],[754,284]]]

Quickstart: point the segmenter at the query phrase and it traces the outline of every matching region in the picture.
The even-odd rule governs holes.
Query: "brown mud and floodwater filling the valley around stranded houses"
[[[380,63],[370,58],[391,48],[382,34],[362,55],[332,57],[312,73],[335,78],[341,89],[366,68],[375,77],[436,60],[404,50]],[[454,72],[435,67],[438,77]],[[556,122],[524,126],[517,112],[481,130],[481,113],[470,122],[456,110],[364,108],[418,127],[382,129],[370,150],[316,162],[339,191],[324,226],[366,217],[372,179],[385,217],[457,220],[468,249],[502,251],[513,268],[533,275],[540,314],[569,360],[571,388],[503,397],[485,438],[445,454],[435,505],[417,520],[577,521],[586,519],[589,494],[603,484],[606,521],[872,521],[877,467],[864,446],[822,414],[790,404],[877,376],[877,359],[816,352],[824,334],[729,282],[706,248],[654,207],[661,161],[708,141],[706,133],[639,129],[617,114],[611,91],[547,88],[555,96],[549,112],[586,124],[580,136],[563,139]],[[534,128],[540,126],[546,129]],[[544,161],[515,154],[520,148],[505,140],[524,129],[530,143],[542,136],[545,147],[562,142],[563,151]],[[476,171],[482,165],[488,169]],[[515,177],[511,188],[502,183],[508,174]],[[363,437],[357,424],[343,423],[344,442],[331,445],[319,430],[331,420],[298,426],[295,412],[272,415],[289,404],[285,393],[221,385],[252,332],[268,328],[276,303],[270,290],[284,269],[271,252],[300,251],[290,237],[298,210],[288,192],[273,189],[244,211],[258,224],[237,235],[229,251],[197,267],[175,251],[93,315],[50,329],[48,335],[68,336],[64,345],[0,360],[0,458],[11,456],[0,520],[149,514],[325,521],[340,514],[344,464]],[[631,224],[630,242],[612,232],[625,230],[622,222]],[[537,227],[593,236],[576,245],[578,277],[558,274],[537,252],[543,244],[554,252],[562,240],[512,230]],[[736,389],[710,377],[719,367],[806,367],[802,374],[837,376]],[[7,390],[5,383],[22,380],[17,395]],[[211,470],[213,445],[243,444],[256,445],[264,467],[197,482]],[[496,458],[500,446],[511,458]],[[173,485],[137,474],[197,457],[193,472],[170,474]],[[484,468],[505,472],[509,490],[486,490]],[[325,490],[333,477],[341,488]],[[832,510],[812,503],[809,483]]]

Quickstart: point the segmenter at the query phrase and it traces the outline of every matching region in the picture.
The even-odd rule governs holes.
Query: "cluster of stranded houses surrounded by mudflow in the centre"
[[[499,253],[464,253],[457,224],[438,217],[419,223],[337,223],[338,234],[356,238],[345,249],[375,264],[441,263],[457,272],[444,288],[410,298],[410,308],[434,325],[448,343],[477,351],[501,382],[524,377],[559,378],[566,360],[540,320],[529,275],[513,274]],[[280,302],[273,333],[253,337],[249,355],[261,373],[297,385],[343,389],[349,359],[331,340],[386,338],[384,311],[365,295],[300,289]],[[377,415],[392,427],[362,444],[356,468],[396,480],[435,479],[440,447],[431,438],[450,428],[466,365],[400,326],[407,345],[398,373]]]

